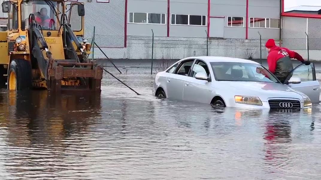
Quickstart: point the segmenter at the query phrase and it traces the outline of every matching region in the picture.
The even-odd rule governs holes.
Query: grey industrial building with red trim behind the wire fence
[[[298,6],[285,10],[284,0],[69,2],[85,4],[86,38],[91,41],[95,27],[95,42],[113,59],[151,59],[153,34],[154,59],[206,54],[266,58],[264,44],[269,38],[299,51],[304,58],[307,58],[308,48],[310,59],[321,57],[321,6]],[[72,14],[76,17],[76,8]],[[5,16],[0,17],[2,30],[6,26]],[[72,28],[79,29],[80,23],[81,19],[76,17],[71,21]],[[94,54],[94,58],[104,58],[98,49]]]

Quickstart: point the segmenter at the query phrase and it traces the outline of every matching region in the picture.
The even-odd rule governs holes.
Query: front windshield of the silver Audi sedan
[[[217,81],[274,82],[278,80],[263,66],[238,62],[211,62]]]

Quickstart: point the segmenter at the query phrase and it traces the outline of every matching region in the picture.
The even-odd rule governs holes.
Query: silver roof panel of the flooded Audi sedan
[[[207,63],[210,62],[239,62],[239,63],[251,63],[251,64],[259,64],[255,61],[249,59],[241,59],[241,58],[230,58],[230,57],[220,57],[220,56],[197,56],[197,57],[188,57],[185,59],[201,59]]]

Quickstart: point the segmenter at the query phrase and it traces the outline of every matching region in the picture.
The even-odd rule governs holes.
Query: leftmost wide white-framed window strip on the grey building
[[[129,23],[165,24],[165,14],[129,12]]]

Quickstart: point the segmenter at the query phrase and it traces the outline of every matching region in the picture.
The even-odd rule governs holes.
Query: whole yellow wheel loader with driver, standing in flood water
[[[102,68],[87,58],[90,44],[78,40],[84,34],[82,3],[70,5],[69,18],[63,0],[10,0],[2,8],[9,18],[8,31],[0,32],[0,77],[9,90],[100,91]],[[72,29],[75,14],[80,27]]]

